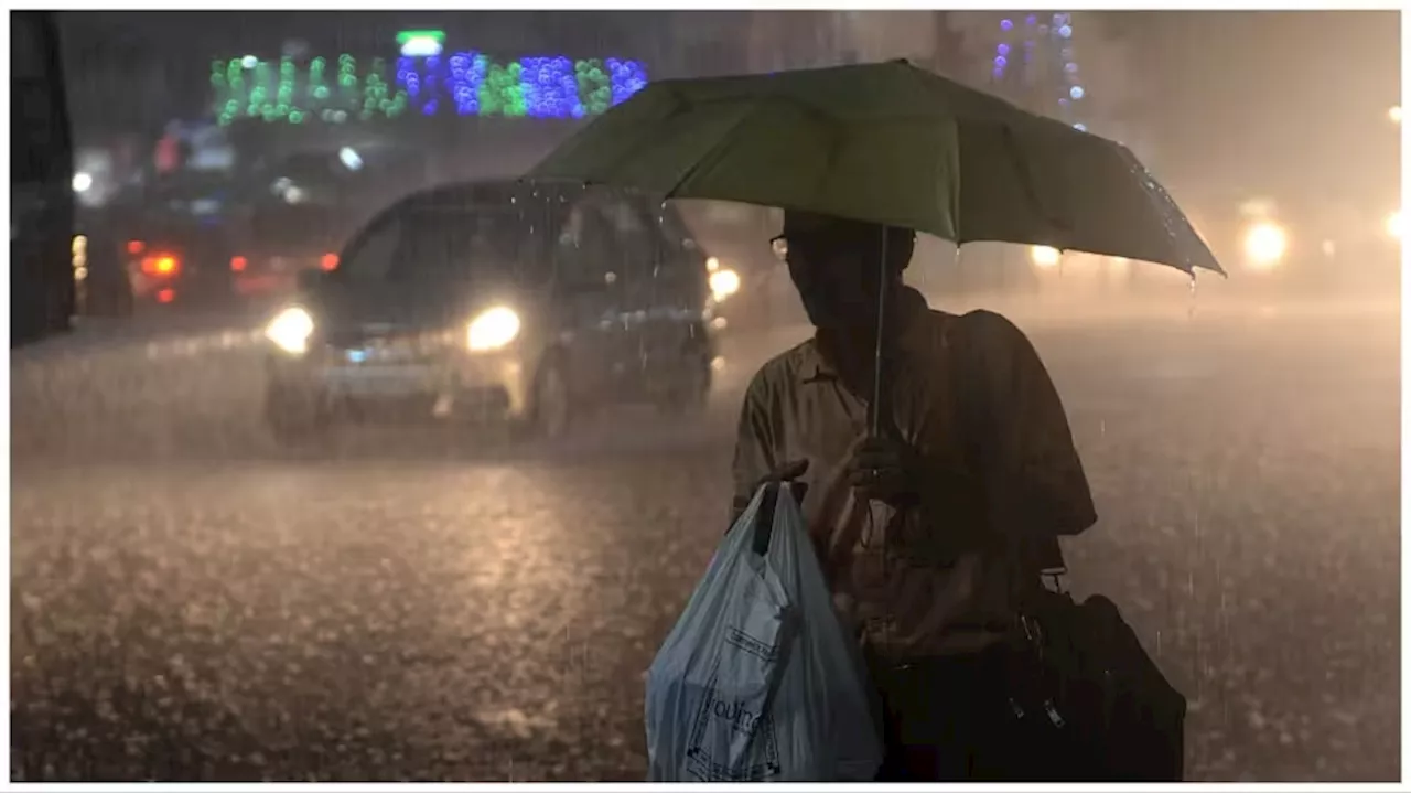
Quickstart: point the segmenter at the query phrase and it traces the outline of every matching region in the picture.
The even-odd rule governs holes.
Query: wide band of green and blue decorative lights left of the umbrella
[[[339,56],[336,75],[323,58],[302,68],[289,56],[277,65],[236,58],[216,61],[210,69],[213,109],[222,124],[238,117],[337,124],[395,119],[406,110],[422,116],[583,119],[605,113],[648,82],[636,61],[552,55],[497,62],[474,51],[402,55],[394,75],[387,73],[382,58],[373,58],[360,73],[347,54]]]

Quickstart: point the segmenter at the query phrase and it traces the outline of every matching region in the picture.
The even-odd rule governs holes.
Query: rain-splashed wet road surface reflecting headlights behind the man
[[[1191,698],[1188,776],[1397,779],[1394,317],[1030,333],[1101,515],[1072,586]],[[279,450],[219,334],[17,363],[13,776],[641,779],[642,673],[724,529],[741,381],[787,337],[727,347],[700,420],[557,447]]]

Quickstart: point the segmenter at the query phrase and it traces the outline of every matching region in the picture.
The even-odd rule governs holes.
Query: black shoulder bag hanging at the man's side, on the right
[[[958,334],[957,334],[958,336]],[[964,423],[971,453],[985,442],[982,395],[967,384],[983,382],[968,350],[958,365]],[[968,370],[968,371],[967,371]],[[971,377],[967,377],[969,374]],[[972,460],[975,457],[972,456]],[[1102,595],[1082,603],[1062,590],[1067,569],[1057,540],[1007,540],[1016,563],[1026,570],[1016,593],[1016,626],[1009,680],[1015,751],[1027,756],[1024,776],[1043,782],[1181,782],[1185,751],[1185,697],[1177,691],[1116,604]],[[1053,557],[1058,564],[1050,563]],[[1054,588],[1044,586],[1044,579]]]

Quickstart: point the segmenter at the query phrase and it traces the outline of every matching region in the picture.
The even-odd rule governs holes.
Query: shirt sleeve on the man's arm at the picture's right
[[[1007,536],[1077,535],[1098,521],[1058,389],[1029,337],[975,312],[989,432],[981,450],[991,523]]]

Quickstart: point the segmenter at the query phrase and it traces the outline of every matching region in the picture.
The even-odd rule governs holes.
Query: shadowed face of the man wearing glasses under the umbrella
[[[840,222],[793,230],[786,223],[782,240],[789,277],[814,327],[854,332],[876,325],[880,227]],[[897,254],[889,251],[888,258]]]

